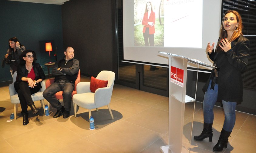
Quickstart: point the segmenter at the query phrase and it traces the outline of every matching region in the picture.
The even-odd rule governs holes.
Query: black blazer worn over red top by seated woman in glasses
[[[44,71],[42,70],[42,67],[39,63],[32,63],[33,69],[35,72],[35,80],[42,79],[45,80],[45,74]],[[22,81],[22,77],[28,77],[29,71],[26,69],[25,65],[19,65],[17,69],[17,79],[16,82]],[[15,83],[16,83],[15,82]],[[41,83],[39,83],[40,88],[42,88]]]

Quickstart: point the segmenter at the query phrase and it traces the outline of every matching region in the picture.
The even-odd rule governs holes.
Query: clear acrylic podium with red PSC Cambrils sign
[[[195,98],[186,95],[187,85],[187,64],[193,63],[197,70],[199,66],[215,69],[215,65],[204,63],[189,57],[177,54],[170,54],[159,51],[169,56],[169,142],[168,145],[160,147],[163,153],[185,153],[190,152],[192,129],[194,122],[194,111],[196,101],[197,80],[195,84]],[[194,102],[192,125],[190,131],[189,149],[185,148],[183,142],[183,127],[185,103]]]

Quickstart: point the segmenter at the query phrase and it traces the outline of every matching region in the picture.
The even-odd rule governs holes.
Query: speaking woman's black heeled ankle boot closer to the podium
[[[209,142],[212,142],[212,123],[204,122],[203,132],[198,136],[194,136],[195,141],[203,141],[205,138],[209,138]]]

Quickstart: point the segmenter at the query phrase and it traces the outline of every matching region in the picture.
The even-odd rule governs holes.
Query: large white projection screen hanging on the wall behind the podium
[[[150,15],[145,13],[147,2],[152,5]],[[212,63],[205,48],[208,42],[217,42],[220,23],[221,0],[123,0],[124,61],[168,65],[168,57],[158,53],[162,51]],[[152,41],[149,30],[151,43],[143,33],[149,26],[155,31]]]

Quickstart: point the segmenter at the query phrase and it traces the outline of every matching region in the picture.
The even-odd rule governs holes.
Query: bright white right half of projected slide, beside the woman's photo
[[[202,47],[202,5],[202,0],[165,1],[164,47]]]

